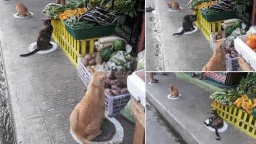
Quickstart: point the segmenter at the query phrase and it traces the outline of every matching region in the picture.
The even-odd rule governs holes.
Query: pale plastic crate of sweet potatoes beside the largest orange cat
[[[130,100],[130,94],[121,94],[119,96],[110,96],[105,93],[105,113],[108,116],[116,116],[121,108]]]

